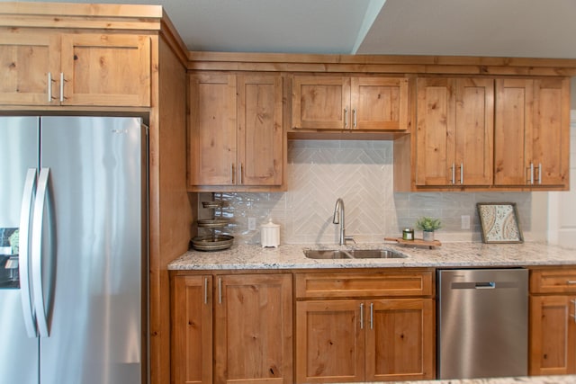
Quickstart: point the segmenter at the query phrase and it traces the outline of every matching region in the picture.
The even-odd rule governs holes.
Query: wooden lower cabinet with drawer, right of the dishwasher
[[[576,269],[530,272],[530,375],[576,373]]]

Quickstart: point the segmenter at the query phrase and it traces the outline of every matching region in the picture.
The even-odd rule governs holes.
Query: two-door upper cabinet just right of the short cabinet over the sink
[[[417,185],[491,185],[492,79],[419,78],[417,113]]]

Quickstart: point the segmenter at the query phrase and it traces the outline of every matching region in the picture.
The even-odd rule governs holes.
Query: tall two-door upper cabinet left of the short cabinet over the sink
[[[281,76],[190,77],[190,190],[284,183]]]

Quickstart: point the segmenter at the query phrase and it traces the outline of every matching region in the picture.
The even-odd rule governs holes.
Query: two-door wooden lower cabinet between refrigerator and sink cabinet
[[[293,382],[291,274],[176,275],[172,305],[173,383]]]

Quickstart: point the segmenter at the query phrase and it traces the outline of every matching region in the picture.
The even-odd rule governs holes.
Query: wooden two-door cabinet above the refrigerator
[[[0,40],[2,104],[150,105],[146,35],[2,31]]]

